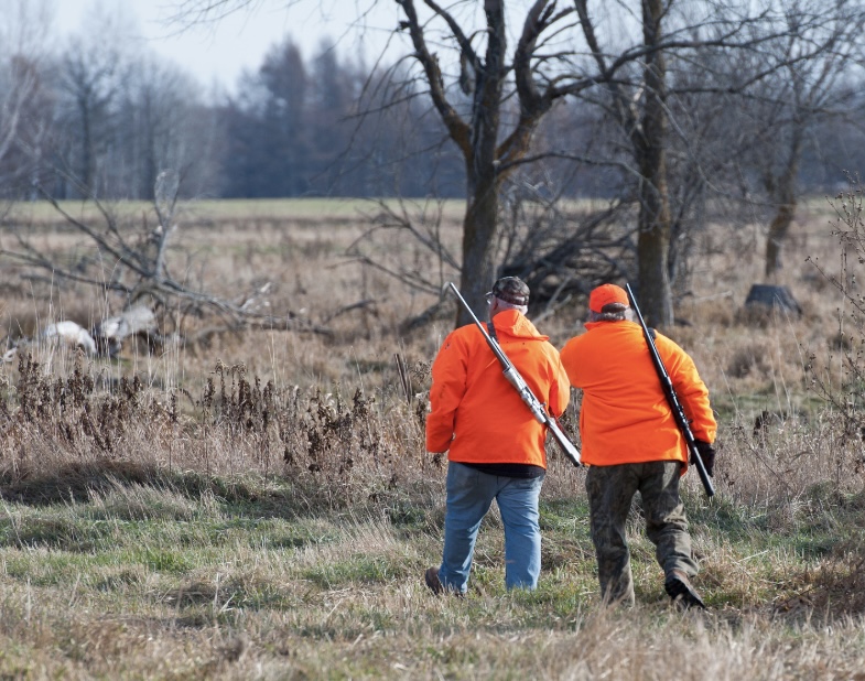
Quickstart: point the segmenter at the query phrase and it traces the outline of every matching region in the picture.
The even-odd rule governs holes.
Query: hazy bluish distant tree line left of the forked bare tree
[[[15,109],[0,121],[4,198],[150,199],[169,169],[187,197],[456,196],[464,184],[423,99],[388,101],[383,73],[331,45],[310,61],[291,40],[274,45],[216,104],[177,66],[96,41],[0,71]]]

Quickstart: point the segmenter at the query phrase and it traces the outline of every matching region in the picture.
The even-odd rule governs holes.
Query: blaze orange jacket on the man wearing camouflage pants
[[[636,322],[590,322],[571,338],[561,358],[571,385],[583,391],[582,458],[612,466],[674,460],[688,466],[688,450]],[[691,357],[657,333],[655,345],[670,375],[695,440],[715,441],[717,424],[709,390]]]

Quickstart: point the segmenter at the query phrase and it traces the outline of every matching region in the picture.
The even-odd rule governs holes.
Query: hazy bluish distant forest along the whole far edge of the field
[[[763,193],[767,159],[791,130],[789,111],[756,99],[681,88],[669,107],[686,120],[672,136],[675,175],[739,197]],[[858,79],[839,79],[831,115],[809,118],[802,192],[832,191],[865,169]],[[843,90],[843,91],[842,91]],[[290,39],[273,45],[233,95],[205,96],[177,65],[79,39],[51,58],[0,64],[0,192],[7,199],[150,199],[159,173],[176,171],[185,197],[462,197],[464,161],[408,67],[369,67],[332,44],[310,60]],[[837,102],[843,102],[839,106]],[[505,115],[508,115],[507,107]],[[518,111],[510,115],[517,116]],[[695,137],[696,136],[696,137]],[[569,98],[536,131],[517,184],[539,195],[613,197],[632,187],[621,130],[604,102]],[[695,139],[698,142],[695,142]],[[778,162],[782,162],[779,159]]]

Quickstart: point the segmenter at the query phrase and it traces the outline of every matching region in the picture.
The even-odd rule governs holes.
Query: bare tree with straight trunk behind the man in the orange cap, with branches
[[[831,44],[826,26],[834,20],[829,17],[840,19],[843,11],[850,19],[855,15],[854,6],[859,3],[640,0],[617,3],[612,6],[614,9],[599,3],[591,7],[588,0],[574,0],[574,4],[596,68],[604,73],[609,64],[623,58],[632,65],[620,69],[617,78],[603,79],[604,96],[594,90],[585,95],[604,107],[628,141],[639,199],[640,303],[652,323],[669,325],[673,321],[670,279],[677,266],[671,261],[677,247],[677,217],[670,205],[670,138],[689,131],[688,125],[674,118],[677,112],[690,115],[677,99],[689,94],[714,94],[727,106],[731,94],[758,90],[781,69],[789,73],[790,68],[818,64]],[[614,14],[614,10],[620,13]],[[598,26],[604,23],[598,17],[607,23],[618,19],[624,41],[619,36],[616,42],[616,34],[608,30],[602,33]],[[854,33],[855,25],[854,22]],[[821,66],[809,68],[820,71]],[[696,71],[696,77],[678,77],[688,71]],[[677,76],[672,86],[671,74]],[[727,116],[733,114],[731,110]],[[691,132],[695,130],[690,127]],[[693,140],[683,140],[683,149],[692,154],[691,177],[701,179],[702,183],[709,177],[709,169],[702,166]]]

